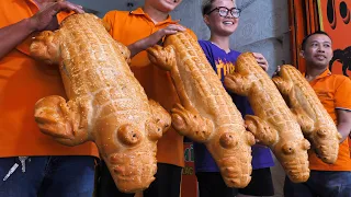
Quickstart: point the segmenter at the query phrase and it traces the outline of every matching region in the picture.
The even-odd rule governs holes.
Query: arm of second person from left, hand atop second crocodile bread
[[[161,28],[150,36],[139,39],[131,45],[128,45],[128,49],[131,50],[131,57],[134,57],[135,55],[139,54],[143,50],[146,50],[147,48],[156,45],[159,40],[161,40],[166,35],[176,34],[178,32],[184,32],[186,28],[177,25],[177,24],[170,24],[165,28]]]

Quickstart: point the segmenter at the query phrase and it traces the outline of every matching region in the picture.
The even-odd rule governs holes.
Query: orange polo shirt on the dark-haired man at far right
[[[329,69],[322,72],[309,84],[315,90],[321,104],[337,124],[336,109],[351,111],[351,81],[340,74],[332,74]],[[314,151],[309,150],[309,169],[317,171],[351,171],[349,138],[339,147],[338,160],[335,164],[324,163]]]

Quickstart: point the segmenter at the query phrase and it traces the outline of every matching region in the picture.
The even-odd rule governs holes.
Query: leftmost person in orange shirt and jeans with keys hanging
[[[0,196],[92,196],[93,143],[69,148],[43,135],[34,120],[36,101],[65,96],[58,68],[30,57],[35,33],[55,30],[79,5],[54,0],[0,1]],[[60,12],[60,13],[58,13]]]

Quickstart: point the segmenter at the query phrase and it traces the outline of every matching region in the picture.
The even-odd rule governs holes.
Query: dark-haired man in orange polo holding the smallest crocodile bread
[[[327,33],[315,32],[303,40],[301,55],[306,60],[306,80],[342,136],[338,160],[335,164],[326,164],[309,150],[309,179],[295,184],[286,177],[285,197],[351,196],[351,159],[348,142],[351,130],[351,81],[344,76],[332,74],[328,69],[332,58],[331,46],[332,42]]]

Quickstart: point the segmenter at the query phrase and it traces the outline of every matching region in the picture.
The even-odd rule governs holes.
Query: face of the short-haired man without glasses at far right
[[[312,35],[306,40],[305,49],[302,51],[307,66],[319,69],[327,68],[332,58],[331,39],[324,34]]]

